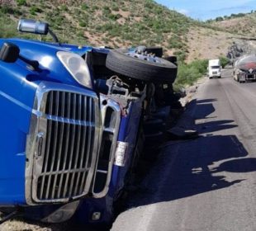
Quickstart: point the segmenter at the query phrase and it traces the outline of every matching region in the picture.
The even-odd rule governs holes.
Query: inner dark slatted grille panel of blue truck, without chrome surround
[[[95,125],[93,104],[91,97],[49,92],[45,108],[45,114],[49,115],[45,157],[37,186],[39,200],[83,194],[91,165]]]

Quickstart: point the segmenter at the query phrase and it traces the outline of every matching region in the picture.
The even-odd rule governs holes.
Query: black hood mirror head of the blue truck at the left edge
[[[12,43],[4,43],[0,50],[0,60],[5,63],[15,63],[20,55],[20,49]]]

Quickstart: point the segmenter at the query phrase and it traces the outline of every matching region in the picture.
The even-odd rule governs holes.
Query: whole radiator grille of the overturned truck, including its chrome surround
[[[67,202],[87,195],[97,159],[100,116],[96,94],[42,88],[27,142],[28,161],[33,163],[32,171],[31,164],[26,167],[27,179],[31,176],[32,200],[26,190],[29,204]]]

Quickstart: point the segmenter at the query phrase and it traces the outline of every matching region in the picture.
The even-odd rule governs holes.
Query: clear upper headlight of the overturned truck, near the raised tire
[[[58,51],[57,57],[79,84],[92,88],[90,71],[82,57],[66,51]]]

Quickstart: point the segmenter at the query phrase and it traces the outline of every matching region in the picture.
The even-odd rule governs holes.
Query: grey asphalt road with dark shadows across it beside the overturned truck
[[[256,82],[232,69],[188,106],[199,138],[170,141],[112,231],[256,230]]]

